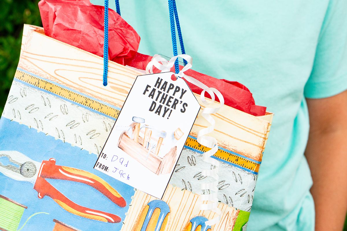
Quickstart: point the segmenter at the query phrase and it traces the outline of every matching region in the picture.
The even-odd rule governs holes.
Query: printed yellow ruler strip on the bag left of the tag
[[[100,103],[94,99],[88,98],[88,97],[83,96],[81,94],[75,93],[71,90],[65,89],[65,88],[60,87],[58,85],[55,85],[54,83],[37,78],[37,77],[35,77],[31,74],[28,74],[24,71],[17,70],[16,74],[15,74],[15,78],[22,80],[26,83],[29,83],[35,87],[49,91],[53,94],[67,98],[67,99],[69,99],[75,103],[82,104],[86,107],[94,109],[98,112],[101,112],[101,113],[108,115],[110,117],[113,117],[115,119],[117,119],[117,117],[119,115],[119,110],[117,110],[113,107],[110,107],[106,104]]]

